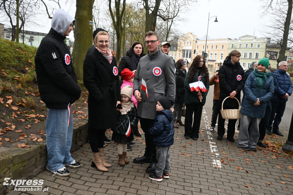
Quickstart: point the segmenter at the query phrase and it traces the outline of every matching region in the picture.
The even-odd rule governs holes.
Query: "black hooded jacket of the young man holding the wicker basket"
[[[232,64],[231,57],[229,56],[226,57],[226,59],[224,60],[223,66],[221,66],[219,69],[219,85],[220,85],[220,101],[230,96],[230,93],[232,93],[234,90],[237,90],[238,92],[235,95],[235,97],[240,102],[240,97],[241,97],[240,92],[245,85],[245,73],[239,62],[236,62],[234,65]],[[236,106],[237,105],[238,105],[238,102],[236,102]],[[231,105],[231,106],[234,106],[234,105]]]

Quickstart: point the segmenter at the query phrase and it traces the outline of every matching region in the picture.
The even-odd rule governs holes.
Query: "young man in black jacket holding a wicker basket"
[[[233,50],[229,53],[229,56],[224,60],[223,66],[219,69],[219,85],[220,85],[220,99],[219,105],[222,105],[223,100],[226,97],[232,99],[237,98],[240,102],[241,90],[245,85],[244,70],[239,63],[241,53],[237,50]],[[224,103],[224,109],[238,109],[239,104],[236,100],[228,100]],[[219,107],[222,109],[222,106]],[[227,139],[234,142],[235,124],[237,119],[229,119],[227,129]],[[223,119],[221,112],[219,111],[218,119],[218,137],[217,140],[222,140],[225,134],[225,119]]]

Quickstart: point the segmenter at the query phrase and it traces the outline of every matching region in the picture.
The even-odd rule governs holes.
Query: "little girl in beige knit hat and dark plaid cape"
[[[130,71],[131,72],[131,71]],[[129,163],[126,156],[127,143],[133,141],[134,126],[137,126],[138,117],[136,116],[136,107],[133,104],[132,86],[125,85],[121,88],[122,109],[118,112],[118,124],[112,128],[112,141],[118,143],[118,161],[120,166]]]

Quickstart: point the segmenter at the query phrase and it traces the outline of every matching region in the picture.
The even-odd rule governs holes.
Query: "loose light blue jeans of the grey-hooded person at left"
[[[48,108],[47,110],[47,167],[52,171],[56,171],[73,161],[70,153],[73,133],[73,117],[71,105],[69,107],[70,112],[68,109]],[[68,118],[70,121],[69,125]]]

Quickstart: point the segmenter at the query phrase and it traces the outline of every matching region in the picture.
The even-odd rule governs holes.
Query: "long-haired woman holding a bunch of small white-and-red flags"
[[[200,91],[191,91],[189,84],[197,81],[202,81],[209,91],[209,72],[207,71],[207,66],[205,65],[205,59],[201,55],[197,55],[190,69],[188,70],[184,87],[185,87],[185,138],[197,140],[199,136],[200,129],[200,119],[202,115],[202,107],[205,105],[207,92]],[[192,115],[193,117],[193,126],[192,126]],[[192,127],[191,127],[192,126]]]

